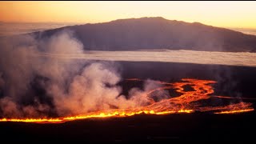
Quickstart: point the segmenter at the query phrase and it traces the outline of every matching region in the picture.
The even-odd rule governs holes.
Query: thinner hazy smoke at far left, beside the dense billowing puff
[[[46,90],[52,85],[64,89],[65,82],[68,82],[82,68],[84,62],[80,61],[69,59],[60,61],[56,58],[31,56],[31,54],[40,53],[42,51],[40,47],[50,54],[82,53],[83,51],[81,42],[73,38],[70,31],[61,32],[49,40],[41,41],[35,40],[30,35],[3,39],[1,41],[0,87],[5,84],[5,88],[2,90],[4,95],[0,99],[0,108],[4,116],[40,116],[41,113],[48,113],[50,107],[40,103],[36,95],[30,94],[31,82],[34,78],[38,75],[49,78],[49,83],[39,81]],[[32,104],[24,104],[26,99],[32,99]]]

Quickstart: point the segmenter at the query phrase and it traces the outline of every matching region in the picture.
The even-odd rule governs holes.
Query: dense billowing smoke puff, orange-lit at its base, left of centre
[[[107,110],[110,105],[118,105],[117,97],[121,88],[115,86],[120,78],[100,63],[87,66],[82,74],[74,77],[70,83],[69,94],[63,94],[58,86],[49,90],[55,95],[58,112],[83,114],[94,110]],[[109,84],[111,87],[106,87]]]

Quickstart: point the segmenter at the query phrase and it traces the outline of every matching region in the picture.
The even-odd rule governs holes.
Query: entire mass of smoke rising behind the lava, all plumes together
[[[158,86],[148,80],[143,90],[134,88],[126,98],[117,85],[122,78],[113,63],[36,55],[86,54],[70,31],[42,40],[19,36],[4,39],[0,44],[0,112],[4,117],[45,117],[53,111],[63,116],[145,106],[149,99],[143,95]],[[43,98],[31,92],[35,85],[46,92]],[[164,92],[160,93],[155,95]],[[43,102],[40,98],[51,101]]]

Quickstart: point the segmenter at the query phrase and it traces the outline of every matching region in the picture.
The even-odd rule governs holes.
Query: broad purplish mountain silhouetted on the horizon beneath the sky
[[[73,30],[86,50],[206,50],[256,52],[256,36],[206,26],[155,18],[118,19],[111,22],[66,26],[34,33],[49,38],[60,30]]]

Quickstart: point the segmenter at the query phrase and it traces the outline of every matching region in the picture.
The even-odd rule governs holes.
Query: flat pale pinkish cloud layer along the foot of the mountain
[[[37,54],[59,59],[90,59],[129,62],[186,62],[226,66],[256,66],[256,54],[195,50],[87,51],[86,54]]]

